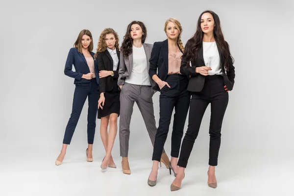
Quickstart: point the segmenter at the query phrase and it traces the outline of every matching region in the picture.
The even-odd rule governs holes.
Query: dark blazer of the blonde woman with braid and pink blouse
[[[181,49],[180,51],[183,52]],[[157,74],[161,80],[165,81],[169,73],[169,44],[167,39],[163,42],[155,42],[153,44],[149,63],[150,77],[152,78],[153,75]],[[160,91],[158,84],[155,84],[153,89],[155,91]]]

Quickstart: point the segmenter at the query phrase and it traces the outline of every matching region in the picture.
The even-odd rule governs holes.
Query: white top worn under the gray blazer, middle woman
[[[141,48],[133,46],[133,69],[132,73],[125,79],[125,82],[151,86],[147,69],[147,58],[143,46]]]

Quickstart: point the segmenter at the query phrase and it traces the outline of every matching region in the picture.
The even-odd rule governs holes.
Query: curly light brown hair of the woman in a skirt
[[[115,48],[117,50],[120,50],[120,47],[119,47],[120,40],[119,40],[119,35],[117,34],[117,32],[115,32],[112,28],[105,28],[100,34],[97,50],[96,50],[96,53],[94,56],[95,58],[97,57],[98,52],[103,52],[107,49],[107,45],[105,43],[105,37],[107,34],[114,35],[114,38],[116,40],[115,41]]]

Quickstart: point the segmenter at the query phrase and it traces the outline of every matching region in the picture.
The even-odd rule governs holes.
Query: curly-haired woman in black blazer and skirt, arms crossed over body
[[[111,150],[120,115],[120,90],[117,84],[120,67],[119,36],[112,28],[105,28],[100,34],[95,57],[97,57],[100,78],[98,119],[101,119],[100,135],[106,151],[100,167],[106,170],[107,167],[116,168]],[[107,133],[108,124],[109,133]]]

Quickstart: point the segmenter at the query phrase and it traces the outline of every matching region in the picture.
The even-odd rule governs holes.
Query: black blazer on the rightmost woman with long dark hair
[[[188,41],[189,42],[189,41]],[[186,45],[189,43],[187,42]],[[218,45],[218,43],[217,43]],[[220,54],[220,62],[222,62],[222,55],[221,55],[221,50],[218,47],[219,54]],[[224,79],[224,84],[226,85],[227,89],[229,91],[233,90],[233,86],[235,83],[235,67],[233,66],[233,60],[231,56],[228,57],[228,63],[229,63],[229,70],[225,70],[224,65],[221,65],[221,71],[222,71],[222,76]],[[203,59],[203,47],[198,50],[197,57],[196,59],[193,59],[191,61],[191,66],[187,67],[186,64],[186,59],[182,59],[181,62],[181,68],[180,72],[185,75],[191,75],[189,84],[188,84],[188,91],[192,92],[200,92],[203,88],[204,85],[204,80],[205,77],[204,75],[201,75],[200,73],[196,73],[196,67],[202,67],[205,66],[204,59]]]

